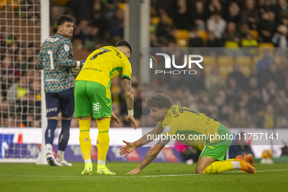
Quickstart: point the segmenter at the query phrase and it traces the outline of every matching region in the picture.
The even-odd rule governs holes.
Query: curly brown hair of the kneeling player
[[[172,106],[172,99],[164,94],[154,94],[145,99],[145,103],[148,107],[157,107],[169,109]]]

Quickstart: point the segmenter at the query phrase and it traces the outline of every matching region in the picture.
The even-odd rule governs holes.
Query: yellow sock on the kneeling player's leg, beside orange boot
[[[215,174],[233,169],[233,164],[230,161],[215,161],[211,163],[202,174]]]

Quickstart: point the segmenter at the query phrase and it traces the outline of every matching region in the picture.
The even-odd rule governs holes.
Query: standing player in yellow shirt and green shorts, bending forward
[[[75,115],[79,121],[79,141],[85,162],[84,171],[81,174],[92,174],[90,140],[90,115],[96,118],[98,127],[97,152],[98,164],[96,174],[115,174],[105,166],[106,155],[109,149],[110,119],[119,124],[119,120],[112,113],[112,98],[110,92],[111,79],[121,74],[125,100],[128,108],[127,120],[133,123],[134,129],[137,124],[134,119],[133,105],[134,96],[131,86],[131,45],[120,40],[115,47],[106,46],[95,50],[86,59],[80,73],[75,80]]]

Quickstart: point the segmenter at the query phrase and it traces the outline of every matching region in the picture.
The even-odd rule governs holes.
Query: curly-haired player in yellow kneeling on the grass
[[[253,155],[246,155],[244,157],[239,155],[235,159],[226,160],[226,153],[231,144],[231,140],[226,135],[230,135],[231,133],[221,123],[187,107],[172,105],[171,98],[164,94],[155,94],[146,98],[146,104],[150,109],[150,115],[158,124],[154,130],[133,143],[123,140],[126,145],[120,148],[119,154],[126,154],[124,156],[126,157],[135,148],[150,143],[153,138],[157,138],[161,133],[163,133],[162,139],[149,150],[140,165],[127,174],[140,173],[141,170],[156,158],[164,146],[169,143],[171,137],[202,151],[195,170],[198,174],[221,173],[231,169],[256,173],[253,164]],[[211,134],[218,134],[220,136],[211,139],[212,137],[209,138]],[[201,138],[200,135],[205,136]],[[221,135],[225,135],[225,139],[219,139],[223,138]],[[191,138],[198,139],[192,140]]]

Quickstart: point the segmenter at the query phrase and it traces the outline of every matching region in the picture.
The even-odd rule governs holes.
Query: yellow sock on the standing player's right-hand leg
[[[97,151],[98,151],[98,160],[106,161],[106,155],[109,149],[109,128],[110,128],[110,119],[106,118],[102,120],[97,120],[98,126],[98,136],[97,136]]]

